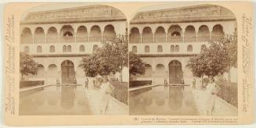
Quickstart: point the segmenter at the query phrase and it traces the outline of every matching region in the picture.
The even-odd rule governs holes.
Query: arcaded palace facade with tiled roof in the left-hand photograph
[[[75,79],[77,84],[85,84],[82,57],[126,30],[123,12],[107,5],[28,12],[20,22],[20,52],[33,55],[39,66],[37,75],[25,79],[45,80],[45,84],[56,84],[56,80],[73,83]]]

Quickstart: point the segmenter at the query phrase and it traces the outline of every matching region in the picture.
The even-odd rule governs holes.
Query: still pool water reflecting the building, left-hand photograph
[[[20,115],[88,115],[85,91],[81,86],[49,86],[20,93]]]

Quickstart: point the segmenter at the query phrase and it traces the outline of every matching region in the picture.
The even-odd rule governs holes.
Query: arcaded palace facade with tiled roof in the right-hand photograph
[[[146,73],[136,80],[153,84],[192,84],[193,74],[186,67],[189,58],[218,41],[236,33],[236,17],[218,5],[194,5],[175,9],[137,12],[130,22],[130,51],[146,62]],[[233,69],[232,81],[236,82]]]

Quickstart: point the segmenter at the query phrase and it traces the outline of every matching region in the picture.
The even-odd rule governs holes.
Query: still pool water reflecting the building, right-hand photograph
[[[189,86],[157,86],[129,96],[130,115],[199,115]]]

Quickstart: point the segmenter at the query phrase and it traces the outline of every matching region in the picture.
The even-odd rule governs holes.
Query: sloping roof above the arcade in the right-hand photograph
[[[138,12],[133,23],[182,23],[190,21],[235,20],[228,9],[218,5],[195,5],[175,9]]]

